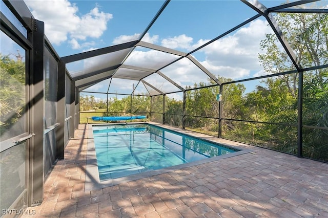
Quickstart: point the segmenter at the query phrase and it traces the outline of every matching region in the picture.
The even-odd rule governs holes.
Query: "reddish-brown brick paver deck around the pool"
[[[22,217],[328,217],[328,164],[240,143],[252,152],[85,191],[90,130],[79,125]]]

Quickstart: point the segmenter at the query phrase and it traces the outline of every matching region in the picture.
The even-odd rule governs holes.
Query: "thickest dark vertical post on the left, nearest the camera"
[[[43,201],[44,186],[44,49],[45,26],[42,21],[31,18],[32,31],[28,38],[30,50],[30,123],[29,129],[35,134],[28,148],[29,184],[28,205],[36,206]]]

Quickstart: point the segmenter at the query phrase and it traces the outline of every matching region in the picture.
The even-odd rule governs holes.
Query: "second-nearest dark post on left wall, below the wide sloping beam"
[[[56,128],[56,158],[59,160],[64,159],[65,148],[65,63],[58,62],[57,68],[57,111],[56,122],[59,126]],[[63,82],[64,81],[64,82]]]

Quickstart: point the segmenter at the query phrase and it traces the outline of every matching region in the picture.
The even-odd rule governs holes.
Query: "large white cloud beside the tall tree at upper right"
[[[260,71],[258,61],[259,42],[265,33],[272,33],[266,21],[257,19],[248,27],[239,29],[235,34],[223,37],[204,47],[205,54],[201,63],[215,75],[233,79],[248,76],[251,71]]]

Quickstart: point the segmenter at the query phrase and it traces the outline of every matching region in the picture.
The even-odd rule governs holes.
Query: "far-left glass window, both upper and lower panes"
[[[3,32],[0,41],[0,141],[4,142],[26,133],[26,71],[25,50]],[[7,148],[2,147],[0,154],[1,210],[25,190],[25,143]]]

